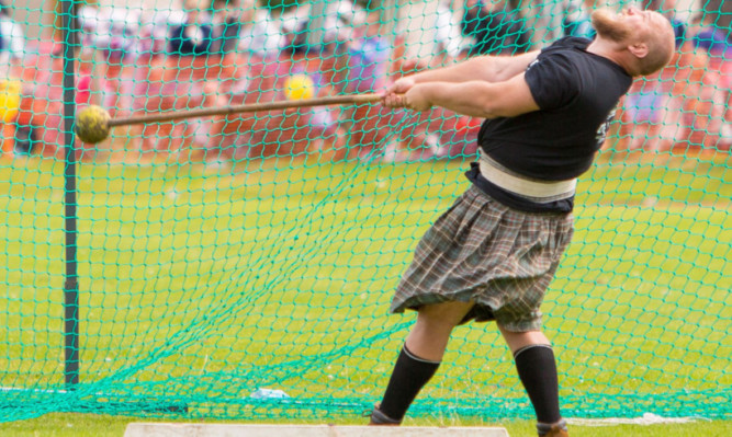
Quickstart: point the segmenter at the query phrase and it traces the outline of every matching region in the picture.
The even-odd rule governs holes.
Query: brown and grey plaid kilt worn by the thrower
[[[474,301],[463,323],[539,330],[539,307],[573,231],[572,214],[511,209],[473,185],[417,244],[390,310]]]

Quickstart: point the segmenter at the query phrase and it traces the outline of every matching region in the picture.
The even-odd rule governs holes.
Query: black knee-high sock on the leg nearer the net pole
[[[379,410],[393,419],[404,418],[417,393],[432,378],[439,366],[439,361],[430,361],[412,354],[405,344],[396,359]]]

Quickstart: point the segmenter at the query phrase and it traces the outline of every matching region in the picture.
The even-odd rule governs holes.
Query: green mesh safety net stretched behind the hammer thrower
[[[592,37],[587,2],[122,3],[2,7],[0,419],[359,421],[414,322],[388,314],[393,290],[469,186],[481,120],[340,105],[115,127],[71,150],[65,107],[374,92]],[[700,3],[667,11],[672,65],[635,82],[579,181],[542,307],[565,416],[731,418],[732,11]],[[410,415],[533,416],[494,324],[454,331]]]

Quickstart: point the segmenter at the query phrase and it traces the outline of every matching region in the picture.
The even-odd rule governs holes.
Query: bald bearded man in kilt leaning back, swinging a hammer
[[[396,81],[390,107],[442,106],[487,118],[473,185],[417,245],[392,312],[418,311],[373,425],[398,425],[437,370],[452,329],[495,320],[537,413],[540,436],[566,436],[556,365],[539,307],[573,232],[576,177],[592,164],[632,78],[674,51],[668,21],[635,8],[593,14],[597,37],[566,37],[516,57],[478,57]]]

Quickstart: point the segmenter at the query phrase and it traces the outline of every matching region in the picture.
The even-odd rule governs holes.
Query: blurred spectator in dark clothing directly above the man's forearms
[[[463,35],[475,44],[468,56],[513,55],[530,47],[529,30],[515,2],[508,0],[465,0]]]

